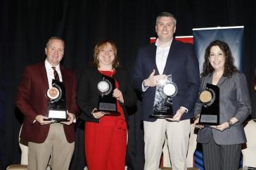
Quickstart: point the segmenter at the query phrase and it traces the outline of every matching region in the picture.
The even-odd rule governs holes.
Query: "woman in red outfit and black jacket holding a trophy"
[[[127,111],[136,104],[129,73],[119,67],[117,48],[112,41],[100,41],[94,48],[94,67],[81,74],[77,89],[77,105],[85,121],[84,145],[89,170],[120,170],[125,166],[127,148]],[[115,79],[113,96],[117,99],[117,112],[97,111],[101,93],[98,82],[103,75]]]

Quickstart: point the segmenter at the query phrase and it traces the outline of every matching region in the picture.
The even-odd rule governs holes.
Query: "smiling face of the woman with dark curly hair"
[[[209,61],[215,71],[224,71],[225,60],[225,54],[219,46],[210,48]]]

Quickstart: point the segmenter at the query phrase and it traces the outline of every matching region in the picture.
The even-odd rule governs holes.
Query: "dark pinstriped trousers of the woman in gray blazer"
[[[203,146],[205,170],[238,170],[241,144],[218,145],[213,137]]]

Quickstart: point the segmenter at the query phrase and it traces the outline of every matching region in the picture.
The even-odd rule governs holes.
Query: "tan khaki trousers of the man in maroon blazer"
[[[42,125],[44,126],[44,125]],[[75,142],[68,143],[63,124],[51,124],[44,143],[28,143],[28,170],[46,170],[51,157],[52,170],[68,170]]]

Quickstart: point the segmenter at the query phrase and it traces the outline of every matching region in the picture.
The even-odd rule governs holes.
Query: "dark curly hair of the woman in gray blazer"
[[[210,49],[212,46],[219,46],[219,48],[223,51],[225,57],[225,64],[224,64],[224,77],[231,77],[234,72],[238,72],[235,65],[233,65],[234,59],[229,48],[229,45],[226,44],[224,41],[215,40],[210,43],[209,46],[205,49],[205,62],[203,63],[203,72],[201,76],[206,76],[214,71],[214,68],[210,64],[209,57],[210,57]]]

